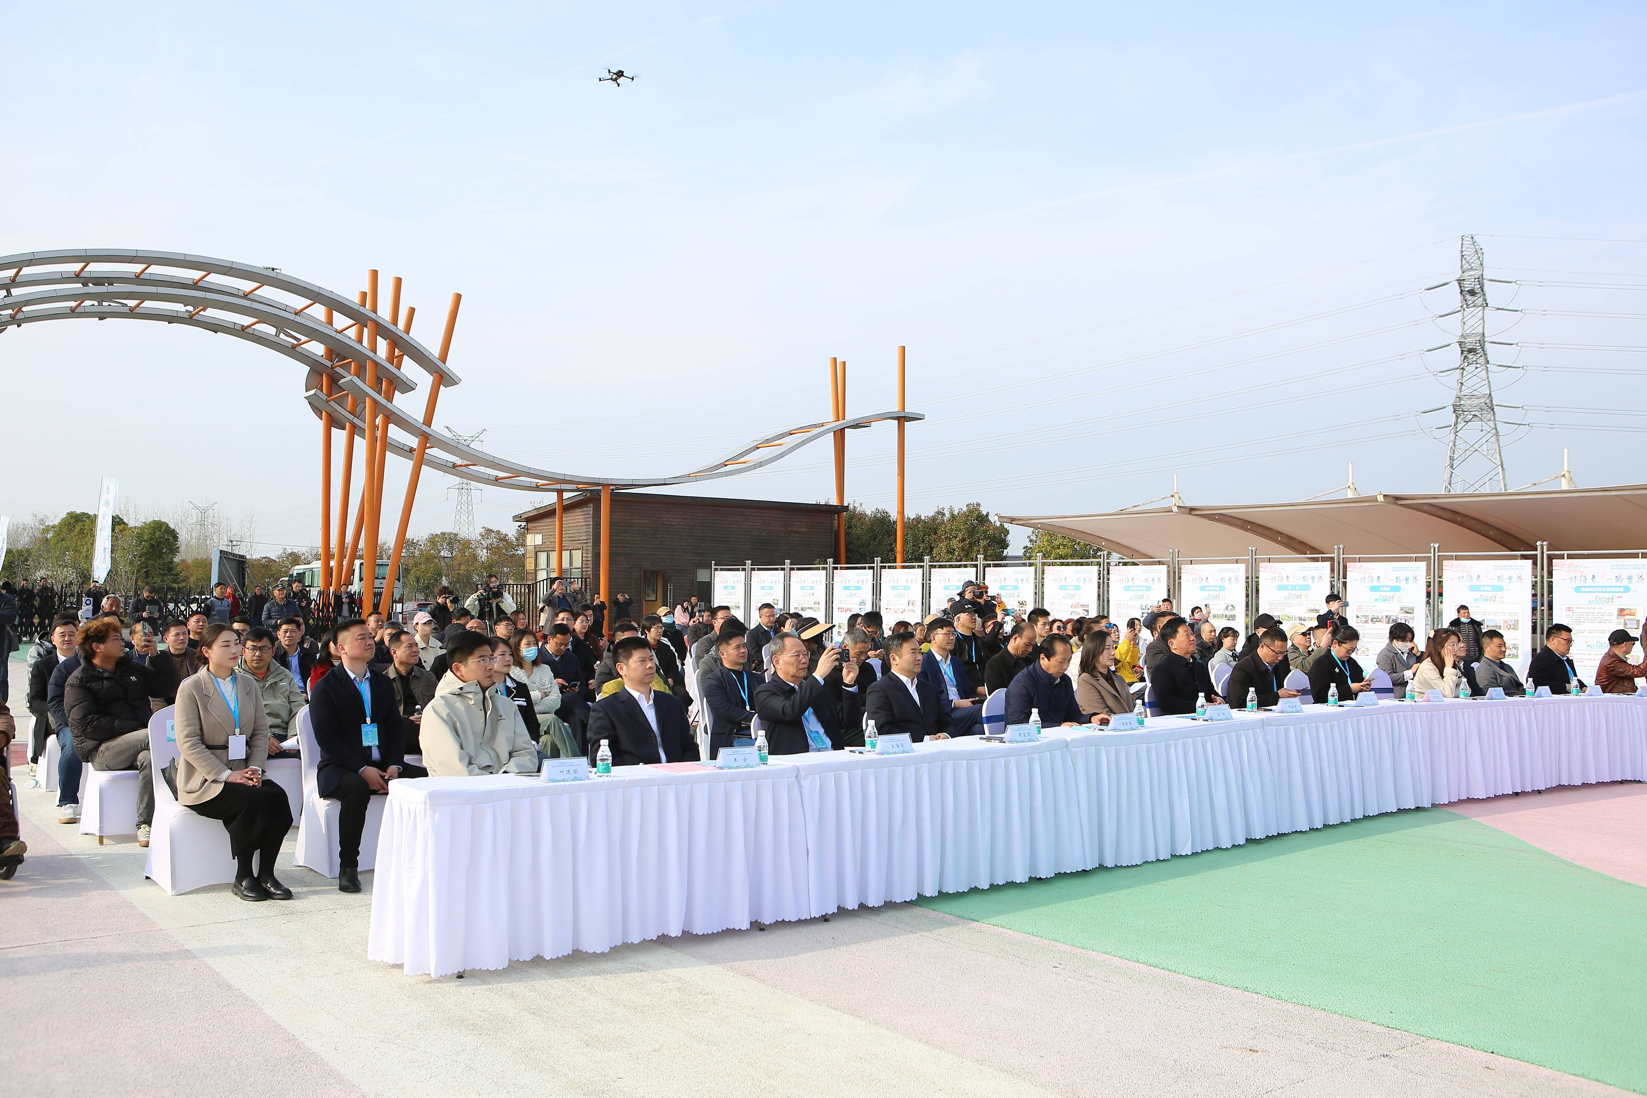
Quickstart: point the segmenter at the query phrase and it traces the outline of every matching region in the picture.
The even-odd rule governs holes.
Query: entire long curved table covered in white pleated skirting
[[[1647,780],[1647,698],[1304,706],[758,770],[390,785],[367,955],[435,976]]]

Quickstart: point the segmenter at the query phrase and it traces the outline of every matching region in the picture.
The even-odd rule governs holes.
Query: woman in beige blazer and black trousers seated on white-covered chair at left
[[[275,879],[275,858],[292,830],[287,792],[264,777],[268,718],[250,675],[237,675],[240,637],[224,624],[206,626],[204,667],[178,686],[173,728],[178,736],[178,803],[229,830],[239,863],[234,894],[242,900],[290,900]],[[252,876],[252,854],[259,854]]]

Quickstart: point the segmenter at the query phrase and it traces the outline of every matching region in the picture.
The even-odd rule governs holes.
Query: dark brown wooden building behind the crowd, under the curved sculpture
[[[600,589],[601,495],[580,492],[565,500],[562,561],[555,568],[555,504],[514,517],[525,527],[525,576],[581,576],[585,591]],[[845,507],[784,504],[766,499],[707,499],[613,492],[611,586],[634,599],[637,614],[662,612],[687,594],[710,598],[710,565],[799,565],[835,556],[835,523]]]

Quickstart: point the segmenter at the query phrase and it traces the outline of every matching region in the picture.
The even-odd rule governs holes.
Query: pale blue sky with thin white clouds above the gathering
[[[1438,491],[1458,234],[1481,234],[1512,486],[1640,479],[1640,5],[87,5],[8,15],[0,254],[152,247],[407,280],[438,423],[588,474],[889,407],[909,505]],[[598,84],[606,67],[639,74]],[[1560,313],[1551,316],[1550,313]],[[1604,313],[1606,316],[1570,316]],[[1515,328],[1510,329],[1510,324]],[[13,515],[217,499],[311,542],[283,361],[147,324],[0,339]],[[1555,369],[1548,369],[1555,367]],[[418,397],[412,397],[418,403]],[[23,410],[18,415],[18,410]],[[33,410],[33,412],[30,412]],[[175,431],[163,430],[175,426]],[[1561,425],[1561,426],[1551,426]],[[107,448],[76,440],[104,428]],[[125,443],[125,444],[119,444]],[[848,494],[889,505],[891,435]],[[36,461],[35,456],[46,456]],[[204,458],[204,459],[203,459]],[[390,482],[404,472],[390,466]],[[450,522],[425,479],[413,530]],[[392,487],[390,491],[399,491]],[[825,499],[827,448],[716,494]],[[488,491],[504,525],[534,497]]]

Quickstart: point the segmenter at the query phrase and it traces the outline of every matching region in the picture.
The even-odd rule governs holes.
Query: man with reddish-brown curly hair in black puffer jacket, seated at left
[[[74,754],[99,770],[137,770],[137,844],[148,846],[155,785],[148,774],[147,667],[125,654],[115,617],[94,617],[77,635],[81,665],[63,688]]]

